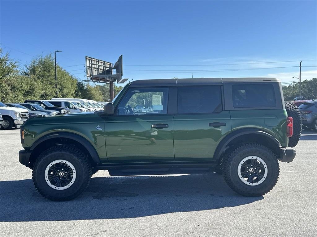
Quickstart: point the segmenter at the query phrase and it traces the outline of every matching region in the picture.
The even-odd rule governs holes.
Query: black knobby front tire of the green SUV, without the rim
[[[56,190],[45,180],[45,169],[55,160],[70,162],[76,170],[76,179],[67,189]],[[40,154],[33,166],[32,179],[36,190],[52,201],[68,201],[79,196],[88,186],[91,178],[91,166],[86,156],[75,146],[57,145]]]

